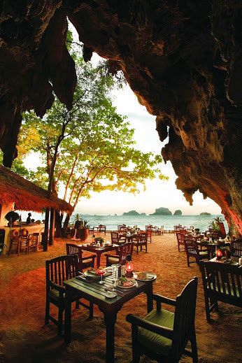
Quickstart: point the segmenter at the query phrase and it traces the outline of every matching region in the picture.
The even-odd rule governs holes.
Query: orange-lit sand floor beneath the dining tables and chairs
[[[110,236],[106,236],[106,240]],[[73,304],[72,343],[65,346],[57,327],[43,325],[45,313],[45,260],[65,254],[68,240],[56,239],[48,252],[31,252],[20,257],[0,257],[0,362],[1,363],[92,363],[105,362],[106,331],[103,315]],[[199,277],[197,296],[197,344],[201,363],[241,362],[241,309],[219,303],[213,322],[206,322],[204,293],[197,264],[187,267],[185,252],[178,252],[173,234],[152,237],[148,253],[133,255],[134,267],[154,271],[154,292],[175,298],[193,276]],[[105,265],[105,259],[101,260]],[[131,329],[128,313],[145,316],[145,295],[124,304],[115,325],[116,362],[131,362]],[[167,308],[167,306],[166,306]],[[52,307],[53,315],[56,313]],[[143,357],[141,362],[152,362]],[[180,362],[192,362],[183,357]]]

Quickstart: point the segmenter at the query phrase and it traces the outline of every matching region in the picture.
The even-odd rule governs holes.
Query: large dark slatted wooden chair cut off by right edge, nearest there
[[[206,319],[218,311],[218,301],[242,308],[242,269],[218,262],[201,261],[199,264],[204,285]]]

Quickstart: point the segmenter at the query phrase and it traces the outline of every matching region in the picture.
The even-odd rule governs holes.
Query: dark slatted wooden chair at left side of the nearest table
[[[48,261],[45,261],[46,271],[46,303],[45,303],[45,324],[48,324],[49,320],[57,325],[58,335],[62,335],[62,322],[64,313],[64,293],[65,287],[63,285],[64,280],[74,278],[78,276],[78,256],[77,255],[65,255],[59,256]],[[90,311],[90,318],[93,316],[93,304],[90,306],[79,301],[79,297],[75,297],[73,301],[76,301],[76,308],[79,305],[84,306]],[[54,304],[58,308],[58,320],[50,315],[50,303]]]

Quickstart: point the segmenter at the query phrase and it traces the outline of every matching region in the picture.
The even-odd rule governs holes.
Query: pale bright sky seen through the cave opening
[[[71,26],[74,41],[78,41],[78,34]],[[101,58],[94,54],[92,64],[96,65]],[[125,85],[122,90],[113,92],[113,105],[118,113],[126,115],[131,127],[134,128],[134,140],[136,148],[143,152],[155,152],[160,155],[162,146],[167,142],[161,143],[155,130],[155,116],[146,111],[145,106],[138,103],[138,99],[131,91],[129,85]],[[28,157],[27,166],[36,165],[36,155]],[[162,163],[162,173],[169,176],[169,180],[147,180],[145,191],[138,194],[124,192],[93,192],[91,199],[82,198],[76,207],[76,213],[96,214],[96,215],[120,215],[123,212],[135,210],[138,213],[154,213],[155,208],[165,207],[174,213],[177,209],[183,215],[197,215],[201,212],[220,214],[221,208],[209,198],[204,199],[203,195],[196,192],[193,196],[193,206],[190,206],[183,197],[183,193],[176,189],[175,180],[177,178],[170,162]],[[59,197],[63,197],[59,195]]]

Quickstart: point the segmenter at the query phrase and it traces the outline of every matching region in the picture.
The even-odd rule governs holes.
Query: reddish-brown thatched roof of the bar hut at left
[[[54,194],[49,199],[47,190],[0,165],[0,204],[13,202],[15,208],[22,211],[41,212],[48,207],[57,211],[73,211],[73,207],[66,201]]]

